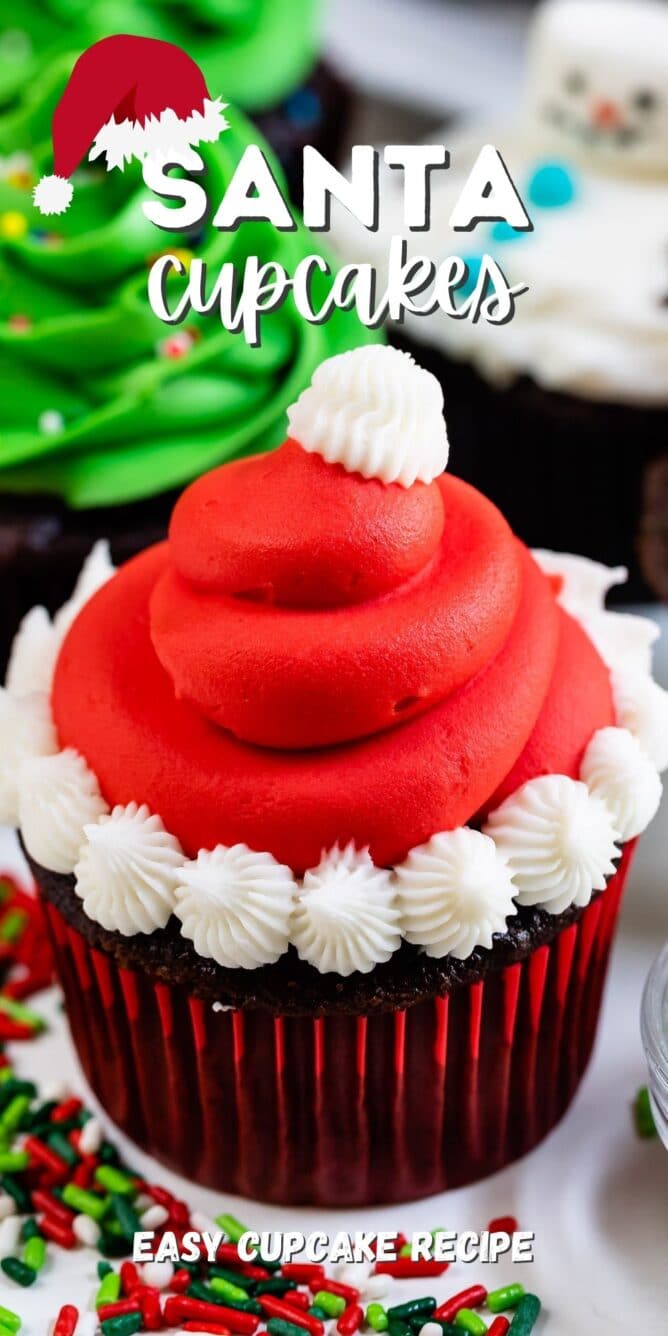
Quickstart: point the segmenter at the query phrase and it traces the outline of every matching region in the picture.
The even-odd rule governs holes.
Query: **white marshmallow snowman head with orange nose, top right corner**
[[[550,0],[533,27],[528,95],[545,147],[668,176],[668,4]]]

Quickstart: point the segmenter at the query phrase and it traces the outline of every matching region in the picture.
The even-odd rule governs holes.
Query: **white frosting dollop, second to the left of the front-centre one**
[[[115,807],[86,826],[75,890],[88,915],[132,937],[164,927],[174,910],[183,850],[146,804]]]

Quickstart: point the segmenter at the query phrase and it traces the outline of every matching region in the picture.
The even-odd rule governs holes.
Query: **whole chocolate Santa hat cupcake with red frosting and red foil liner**
[[[532,556],[442,473],[409,355],[329,359],[289,420],[67,631],[24,628],[0,816],[115,1122],[212,1188],[363,1205],[568,1108],[668,695],[619,572]]]

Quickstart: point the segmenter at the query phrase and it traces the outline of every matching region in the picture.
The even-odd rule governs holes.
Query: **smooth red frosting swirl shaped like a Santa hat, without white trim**
[[[202,478],[75,621],[53,709],[188,854],[389,864],[613,723],[607,669],[489,501],[287,442]]]

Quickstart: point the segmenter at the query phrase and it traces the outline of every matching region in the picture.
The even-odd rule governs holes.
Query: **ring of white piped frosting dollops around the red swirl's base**
[[[588,633],[607,619],[599,648],[613,687],[617,679],[624,681],[624,692],[615,691],[617,727],[593,735],[580,779],[548,775],[529,780],[489,815],[482,832],[470,827],[436,832],[395,868],[375,867],[367,850],[349,844],[323,851],[318,867],[298,882],[270,854],[243,844],[202,850],[195,860],[186,859],[178,840],[146,804],[119,806],[110,814],[83,758],[69,749],[57,754],[63,762],[56,760],[55,729],[44,720],[48,684],[41,679],[43,692],[21,693],[17,668],[20,664],[33,689],[32,637],[41,673],[45,644],[52,651],[45,656],[47,672],[55,668],[64,628],[112,573],[107,552],[98,546],[75,597],[53,623],[47,624],[45,615],[37,617],[35,611],[24,619],[8,685],[0,688],[11,724],[0,751],[0,794],[16,795],[9,804],[12,814],[29,810],[35,764],[23,764],[27,759],[51,758],[40,772],[41,810],[48,804],[49,774],[57,782],[67,760],[68,782],[76,784],[81,776],[79,800],[71,807],[55,803],[57,819],[49,822],[48,832],[35,815],[24,823],[28,852],[41,862],[44,850],[51,850],[52,870],[75,874],[86,912],[103,927],[124,935],[151,933],[164,927],[174,912],[198,954],[226,967],[234,961],[236,967],[257,969],[294,945],[321,973],[346,977],[387,961],[402,939],[436,958],[466,959],[477,947],[493,946],[493,934],[504,931],[517,906],[561,914],[588,904],[613,874],[621,842],[641,834],[659,806],[657,772],[668,764],[668,692],[649,672],[655,624],[604,611],[611,577],[620,572],[607,574],[597,562],[558,553],[534,556],[548,574],[562,578],[557,601]],[[33,727],[27,719],[32,708]],[[659,727],[652,728],[653,720]],[[118,840],[108,839],[112,831],[132,835],[131,842],[123,842],[122,856]],[[81,875],[90,871],[94,848],[98,860],[106,858],[104,876],[96,878],[95,886],[87,872]],[[243,902],[230,895],[235,870],[250,892]]]

